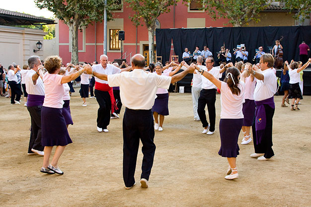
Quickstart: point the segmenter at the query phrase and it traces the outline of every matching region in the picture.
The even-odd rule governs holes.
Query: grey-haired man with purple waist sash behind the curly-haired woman
[[[44,155],[44,146],[41,145],[41,109],[45,97],[43,85],[43,65],[39,56],[28,59],[30,70],[25,77],[25,86],[28,94],[27,110],[30,115],[31,129],[28,146],[28,155]]]

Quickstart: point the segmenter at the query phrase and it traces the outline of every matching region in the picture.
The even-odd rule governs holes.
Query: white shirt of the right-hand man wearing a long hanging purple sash
[[[257,102],[273,97],[277,89],[276,75],[271,68],[262,71],[262,75],[263,81],[257,80],[254,91],[254,100]]]

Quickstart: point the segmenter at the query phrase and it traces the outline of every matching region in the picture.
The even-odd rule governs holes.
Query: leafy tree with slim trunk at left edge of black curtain
[[[156,29],[156,18],[161,13],[168,13],[172,5],[176,5],[179,0],[125,0],[134,12],[129,18],[134,25],[139,26],[143,20],[148,29],[149,35],[149,61],[154,62],[154,32]]]

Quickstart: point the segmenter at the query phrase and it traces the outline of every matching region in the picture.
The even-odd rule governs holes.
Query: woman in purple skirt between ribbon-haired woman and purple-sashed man
[[[245,72],[245,80],[243,81],[245,83],[245,91],[244,91],[244,100],[243,103],[243,126],[242,126],[242,132],[244,134],[244,137],[242,139],[241,144],[248,144],[251,142],[250,137],[250,127],[253,125],[254,115],[255,115],[255,101],[254,101],[254,90],[256,86],[256,80],[253,75],[251,75],[248,72],[248,68],[251,68],[252,65],[250,63],[246,63],[243,65],[243,70]]]

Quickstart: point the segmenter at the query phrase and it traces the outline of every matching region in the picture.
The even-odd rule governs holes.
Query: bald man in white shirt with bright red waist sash
[[[100,64],[93,65],[92,69],[94,74],[117,74],[123,71],[130,70],[131,67],[120,69],[114,65],[108,64],[108,56],[100,56]],[[95,76],[95,91],[94,91],[96,101],[99,105],[97,111],[97,131],[98,132],[109,132],[107,126],[110,123],[111,113],[116,110],[116,102],[113,97],[113,90],[108,86],[108,82],[102,79],[99,79]]]

